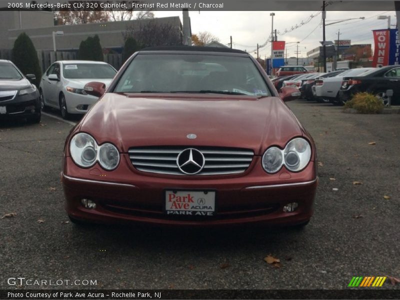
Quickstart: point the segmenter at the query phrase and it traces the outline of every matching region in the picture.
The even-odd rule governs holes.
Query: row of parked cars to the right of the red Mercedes
[[[400,66],[380,68],[360,67],[336,70],[329,73],[297,74],[272,79],[274,86],[296,87],[301,98],[318,102],[343,105],[357,92],[373,93],[388,104],[387,90],[393,90],[391,104],[400,104]]]

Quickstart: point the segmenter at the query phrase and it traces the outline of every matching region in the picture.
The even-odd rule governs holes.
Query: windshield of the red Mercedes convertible
[[[114,92],[270,95],[249,57],[212,54],[138,54]]]

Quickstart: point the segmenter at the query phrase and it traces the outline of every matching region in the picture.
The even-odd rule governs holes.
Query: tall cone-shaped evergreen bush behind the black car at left
[[[25,32],[19,34],[14,42],[12,60],[24,75],[34,74],[36,80],[33,83],[39,86],[41,78],[39,59],[32,40]]]

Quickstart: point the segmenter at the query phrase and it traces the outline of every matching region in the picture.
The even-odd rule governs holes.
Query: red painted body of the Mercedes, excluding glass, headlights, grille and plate
[[[273,96],[112,93],[114,79],[66,139],[61,180],[68,215],[101,223],[177,226],[293,225],[308,221],[317,187],[314,142],[278,97],[264,70],[254,64]],[[99,145],[113,143],[120,152],[117,167],[106,171],[98,162],[89,168],[76,165],[69,154],[69,142],[78,132],[89,133]],[[188,139],[188,133],[197,138]],[[261,165],[264,151],[272,145],[283,149],[294,137],[303,137],[311,145],[305,168],[291,172],[282,166],[276,173],[266,173]],[[227,175],[149,173],[137,170],[129,159],[130,147],[168,145],[236,147],[250,149],[254,155],[243,173]],[[215,190],[216,214],[198,218],[166,215],[165,189]],[[85,208],[82,198],[95,201],[96,208]],[[298,209],[284,212],[283,206],[290,202],[297,202]]]

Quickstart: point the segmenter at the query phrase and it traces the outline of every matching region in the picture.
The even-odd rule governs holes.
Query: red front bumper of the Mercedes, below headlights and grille
[[[134,170],[124,160],[121,157],[120,165],[114,171],[106,172],[96,165],[81,169],[70,157],[65,157],[61,180],[68,215],[99,223],[133,221],[189,226],[294,225],[308,221],[312,215],[317,186],[313,161],[300,172],[302,174],[292,173],[288,178],[290,174],[282,169],[268,180],[265,172],[254,167],[259,157],[254,157],[258,161],[240,176],[215,179],[211,176],[200,179],[148,175]],[[215,190],[216,214],[211,217],[166,215],[163,211],[165,189]],[[82,198],[95,201],[96,208],[84,208],[80,203]],[[284,212],[283,206],[290,202],[297,202],[298,209]]]

